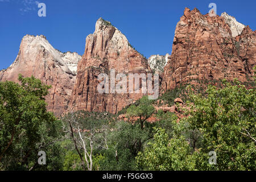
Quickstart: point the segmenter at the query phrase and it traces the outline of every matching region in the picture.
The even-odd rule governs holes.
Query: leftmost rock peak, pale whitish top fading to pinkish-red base
[[[44,84],[52,85],[46,97],[47,109],[59,116],[67,109],[76,79],[75,67],[80,59],[77,53],[57,51],[43,35],[26,35],[14,63],[0,72],[0,81],[18,82],[20,73],[24,77],[33,75]]]

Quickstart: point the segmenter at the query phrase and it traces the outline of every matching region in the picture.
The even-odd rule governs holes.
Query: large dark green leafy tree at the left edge
[[[60,125],[44,101],[50,86],[33,76],[19,75],[19,81],[21,85],[0,82],[0,163],[4,169],[34,169],[40,150],[51,148],[57,154],[53,139]]]

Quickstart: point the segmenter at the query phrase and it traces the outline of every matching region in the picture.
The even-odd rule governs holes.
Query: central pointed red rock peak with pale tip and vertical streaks
[[[109,111],[117,113],[123,107],[133,103],[143,94],[98,93],[97,78],[106,73],[110,78],[110,69],[126,76],[129,73],[147,73],[150,71],[147,60],[133,49],[125,35],[110,22],[98,19],[93,34],[86,38],[85,52],[77,67],[76,83],[73,89],[70,110]],[[127,84],[128,86],[128,84]]]

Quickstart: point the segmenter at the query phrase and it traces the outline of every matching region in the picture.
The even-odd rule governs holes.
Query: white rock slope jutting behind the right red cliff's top
[[[245,28],[245,25],[237,22],[236,18],[228,15],[226,12],[222,13],[221,16],[225,19],[225,22],[229,24],[230,30],[232,31],[232,36],[235,38],[240,35]]]

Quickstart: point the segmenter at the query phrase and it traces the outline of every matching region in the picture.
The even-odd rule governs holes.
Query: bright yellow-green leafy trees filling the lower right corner
[[[154,141],[137,156],[149,170],[255,170],[255,89],[224,82],[208,86],[207,95],[190,94],[187,117],[172,124],[172,134],[155,129]],[[216,164],[209,164],[209,152]]]

